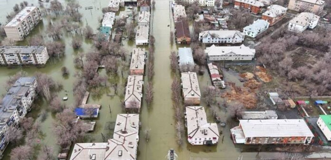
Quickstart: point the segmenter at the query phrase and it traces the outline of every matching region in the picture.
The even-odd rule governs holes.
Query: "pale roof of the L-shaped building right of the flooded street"
[[[216,123],[208,123],[205,108],[203,106],[187,106],[187,137],[188,139],[198,138],[217,138],[219,132]],[[204,132],[207,130],[207,132]],[[205,134],[206,133],[206,134]]]

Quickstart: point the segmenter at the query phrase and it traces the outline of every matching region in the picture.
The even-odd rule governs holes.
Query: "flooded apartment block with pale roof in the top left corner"
[[[26,6],[14,16],[3,28],[9,39],[22,41],[40,22],[41,13],[38,7]]]

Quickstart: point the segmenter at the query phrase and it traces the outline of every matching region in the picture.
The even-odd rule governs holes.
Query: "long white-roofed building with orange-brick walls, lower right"
[[[308,145],[314,137],[303,119],[248,119],[239,122],[239,126],[231,129],[234,143]]]

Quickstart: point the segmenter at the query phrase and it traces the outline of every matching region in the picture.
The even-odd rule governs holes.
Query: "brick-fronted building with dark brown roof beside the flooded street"
[[[191,43],[191,34],[187,20],[178,20],[175,22],[175,35],[178,44]]]

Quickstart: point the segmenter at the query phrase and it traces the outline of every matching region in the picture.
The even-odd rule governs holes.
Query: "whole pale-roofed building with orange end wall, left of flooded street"
[[[131,55],[130,75],[143,75],[146,61],[145,48],[134,48]]]

